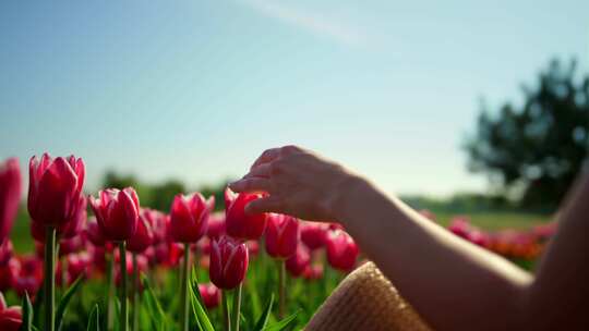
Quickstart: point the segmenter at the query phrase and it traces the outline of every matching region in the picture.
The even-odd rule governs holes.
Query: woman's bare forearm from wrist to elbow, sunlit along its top
[[[520,324],[531,277],[356,177],[334,210],[363,252],[436,330]]]

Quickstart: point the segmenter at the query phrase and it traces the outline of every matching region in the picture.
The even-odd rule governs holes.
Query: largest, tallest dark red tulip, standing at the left
[[[70,222],[77,214],[84,185],[84,162],[70,156],[68,159],[44,154],[33,157],[28,164],[28,213],[36,222],[58,226]]]

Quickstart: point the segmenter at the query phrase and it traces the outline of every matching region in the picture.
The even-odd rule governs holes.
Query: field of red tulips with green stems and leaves
[[[260,194],[154,210],[133,187],[87,192],[85,169],[33,157],[25,192],[19,162],[0,163],[0,330],[300,330],[364,260],[337,223],[245,212]],[[556,228],[421,212],[527,269]]]

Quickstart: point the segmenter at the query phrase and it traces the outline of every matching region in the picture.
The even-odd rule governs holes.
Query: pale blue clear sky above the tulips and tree
[[[195,187],[299,144],[389,192],[483,191],[481,97],[553,57],[589,68],[589,1],[1,1],[0,158]]]

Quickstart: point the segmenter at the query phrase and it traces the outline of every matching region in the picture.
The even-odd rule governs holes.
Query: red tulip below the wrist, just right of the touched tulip
[[[299,220],[291,216],[271,213],[266,225],[266,252],[274,258],[289,258],[299,244]]]

